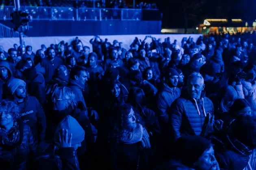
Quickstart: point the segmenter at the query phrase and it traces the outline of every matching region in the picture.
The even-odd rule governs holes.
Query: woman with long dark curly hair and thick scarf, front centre
[[[153,152],[149,135],[132,106],[122,104],[112,117],[110,131],[111,169],[147,169],[152,162]]]

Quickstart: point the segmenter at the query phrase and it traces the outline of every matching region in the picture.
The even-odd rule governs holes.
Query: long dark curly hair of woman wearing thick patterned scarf
[[[131,109],[133,110],[132,106],[129,104],[122,104],[119,106],[119,109],[116,113],[112,115],[111,121],[111,130],[108,134],[109,140],[111,142],[119,142],[121,139],[121,134],[126,130],[128,121],[127,116],[129,115]],[[140,123],[144,126],[144,122],[142,118],[135,113],[136,123]]]

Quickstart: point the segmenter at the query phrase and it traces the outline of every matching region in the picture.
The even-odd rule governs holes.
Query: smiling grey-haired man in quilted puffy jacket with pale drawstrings
[[[169,116],[169,132],[172,140],[181,136],[200,135],[207,114],[213,119],[213,103],[205,97],[204,78],[198,72],[193,72],[187,80],[187,90],[182,91],[180,98],[171,104]],[[184,92],[184,93],[183,93]],[[211,126],[211,127],[209,127]],[[207,130],[212,130],[213,124],[209,123]]]

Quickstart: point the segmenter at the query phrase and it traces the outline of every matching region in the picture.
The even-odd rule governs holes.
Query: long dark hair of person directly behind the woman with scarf
[[[127,102],[137,109],[141,117],[146,117],[143,108],[147,105],[144,91],[138,87],[132,87],[128,94]]]

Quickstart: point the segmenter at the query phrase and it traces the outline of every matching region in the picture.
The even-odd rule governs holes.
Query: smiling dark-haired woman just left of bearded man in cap
[[[161,86],[161,82],[158,79],[158,76],[156,74],[156,71],[154,70],[153,67],[148,67],[144,70],[143,72],[143,79],[147,80],[148,82],[150,82],[152,85],[154,85],[154,87],[156,87],[157,89],[160,88]]]

